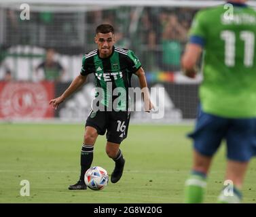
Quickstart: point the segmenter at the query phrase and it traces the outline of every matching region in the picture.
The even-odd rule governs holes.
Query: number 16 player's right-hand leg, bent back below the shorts
[[[107,142],[106,153],[111,159],[113,159],[113,161],[115,161],[115,169],[111,174],[111,182],[118,182],[122,177],[125,163],[125,159],[120,149],[120,144],[115,142]]]

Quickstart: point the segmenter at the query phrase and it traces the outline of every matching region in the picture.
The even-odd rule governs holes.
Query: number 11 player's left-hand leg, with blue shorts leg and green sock
[[[185,203],[203,202],[207,174],[225,134],[225,127],[225,119],[200,112],[196,130],[189,135],[194,139],[194,157],[191,174],[185,182]]]

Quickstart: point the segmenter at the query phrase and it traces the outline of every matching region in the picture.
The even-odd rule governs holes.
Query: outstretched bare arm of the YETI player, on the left
[[[83,85],[86,82],[86,78],[87,75],[78,75],[61,96],[50,100],[49,104],[52,104],[53,109],[57,109],[58,105],[61,102],[63,102],[66,98],[71,96],[73,92],[75,92],[79,87],[81,87],[81,85]]]

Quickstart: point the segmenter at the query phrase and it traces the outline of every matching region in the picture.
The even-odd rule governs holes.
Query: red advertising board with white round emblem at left
[[[0,119],[54,117],[52,82],[0,82]]]

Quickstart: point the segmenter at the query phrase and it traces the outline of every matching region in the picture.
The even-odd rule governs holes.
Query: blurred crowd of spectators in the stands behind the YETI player
[[[81,56],[96,49],[95,28],[102,23],[115,27],[116,45],[133,50],[146,72],[179,72],[196,9],[114,7],[32,12],[30,20],[20,20],[19,11],[2,12],[0,80],[22,79],[19,73],[26,70],[30,72],[23,76],[25,80],[70,81],[79,73]]]

